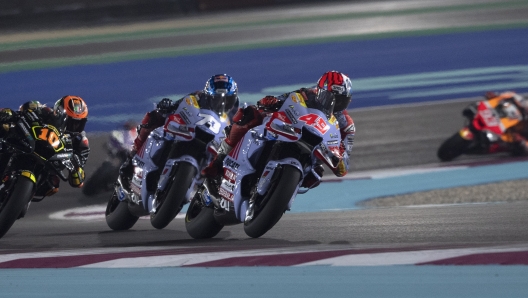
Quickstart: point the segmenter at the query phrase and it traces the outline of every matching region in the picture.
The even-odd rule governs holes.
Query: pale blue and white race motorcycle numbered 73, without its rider
[[[200,171],[216,156],[228,124],[223,111],[201,109],[193,95],[184,98],[132,159],[130,191],[118,178],[105,212],[108,226],[127,230],[150,214],[153,227],[166,227],[202,184]]]

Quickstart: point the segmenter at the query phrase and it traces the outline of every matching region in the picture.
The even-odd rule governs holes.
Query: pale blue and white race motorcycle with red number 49
[[[245,233],[258,238],[290,210],[297,194],[320,183],[317,160],[333,169],[348,160],[339,148],[336,118],[322,110],[291,93],[269,111],[225,158],[223,177],[206,179],[192,198],[185,216],[188,234],[211,238],[225,225],[243,223]],[[308,176],[314,183],[301,188]]]

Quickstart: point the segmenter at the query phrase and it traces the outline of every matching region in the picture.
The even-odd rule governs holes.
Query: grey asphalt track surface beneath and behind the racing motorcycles
[[[437,123],[459,115],[466,101],[440,103],[432,106],[405,106],[354,111],[356,124],[365,129],[358,132],[354,148],[354,167],[362,171],[387,167],[438,164],[435,156],[439,144],[454,133],[460,122],[442,129]],[[439,112],[441,111],[441,112]],[[375,127],[374,117],[390,119],[383,127]],[[369,123],[372,121],[374,123]],[[410,125],[417,124],[419,125]],[[401,123],[408,123],[408,132],[401,134]],[[369,128],[370,127],[370,128]],[[382,132],[382,135],[371,133]],[[415,139],[416,136],[420,138]],[[104,159],[101,141],[105,136],[92,137],[91,160]],[[380,140],[385,140],[380,144]],[[381,152],[380,152],[381,151]],[[390,161],[379,156],[391,156]],[[468,156],[452,164],[510,161],[507,155]],[[90,173],[96,167],[87,167]],[[80,190],[65,183],[54,197],[33,203],[27,216],[15,223],[2,238],[3,253],[53,251],[61,249],[109,248],[134,246],[191,246],[224,248],[290,247],[303,245],[347,244],[354,248],[389,247],[466,247],[519,244],[528,241],[526,208],[528,202],[451,205],[422,208],[378,208],[339,212],[286,213],[271,231],[260,239],[250,239],[240,225],[225,227],[211,240],[193,240],[182,218],[167,228],[156,230],[149,220],[140,220],[130,231],[111,231],[99,220],[50,220],[51,213],[82,205],[104,204],[110,193],[86,197]],[[302,200],[302,197],[299,197]],[[295,209],[295,205],[293,206]],[[462,224],[463,223],[463,224]]]

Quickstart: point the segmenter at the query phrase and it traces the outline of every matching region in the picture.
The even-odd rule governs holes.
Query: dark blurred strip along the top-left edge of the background
[[[0,0],[0,30],[92,25],[318,2],[339,0]]]

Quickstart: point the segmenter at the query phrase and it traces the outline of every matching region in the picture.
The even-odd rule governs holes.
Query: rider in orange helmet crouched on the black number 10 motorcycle
[[[5,137],[9,130],[9,123],[16,120],[17,113],[34,113],[44,124],[53,125],[63,132],[69,140],[73,151],[72,163],[74,170],[70,171],[68,182],[72,187],[82,187],[84,182],[84,166],[90,154],[90,146],[84,127],[88,116],[88,107],[78,96],[67,95],[55,103],[53,109],[38,101],[28,101],[19,107],[19,111],[9,108],[0,110],[0,138]],[[1,148],[0,148],[1,153]],[[59,190],[60,178],[52,175],[47,179],[47,185],[41,187],[35,196],[50,196]]]

